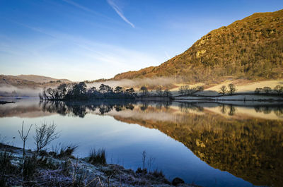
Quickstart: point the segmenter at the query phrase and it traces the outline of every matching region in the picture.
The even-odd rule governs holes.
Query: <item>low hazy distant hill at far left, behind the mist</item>
[[[59,83],[71,83],[71,80],[56,79],[45,76],[21,75],[5,76],[0,75],[0,86],[13,85],[18,88],[38,88],[58,85]]]

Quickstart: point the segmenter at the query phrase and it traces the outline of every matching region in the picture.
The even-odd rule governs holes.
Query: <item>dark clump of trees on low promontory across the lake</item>
[[[115,89],[101,84],[99,88],[87,88],[86,83],[62,83],[57,88],[47,88],[39,94],[40,99],[46,100],[74,100],[74,99],[134,99],[136,94],[133,88]]]

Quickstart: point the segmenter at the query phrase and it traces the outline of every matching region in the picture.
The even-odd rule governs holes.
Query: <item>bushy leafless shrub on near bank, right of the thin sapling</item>
[[[56,131],[56,125],[54,123],[47,125],[44,121],[40,126],[35,126],[33,139],[35,140],[37,153],[57,138],[59,138],[59,132]]]

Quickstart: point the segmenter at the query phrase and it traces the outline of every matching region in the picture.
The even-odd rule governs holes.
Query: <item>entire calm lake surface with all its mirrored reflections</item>
[[[57,124],[53,147],[76,144],[75,155],[105,147],[108,163],[161,169],[200,186],[280,186],[283,107],[272,103],[39,102],[0,105],[0,134],[21,146],[17,130]],[[31,133],[33,133],[32,131]],[[13,138],[15,137],[15,138]],[[33,149],[33,136],[28,139]],[[52,147],[49,147],[52,150]]]

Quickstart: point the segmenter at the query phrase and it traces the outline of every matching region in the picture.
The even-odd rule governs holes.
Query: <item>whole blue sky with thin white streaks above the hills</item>
[[[283,1],[0,0],[0,74],[112,78]]]

